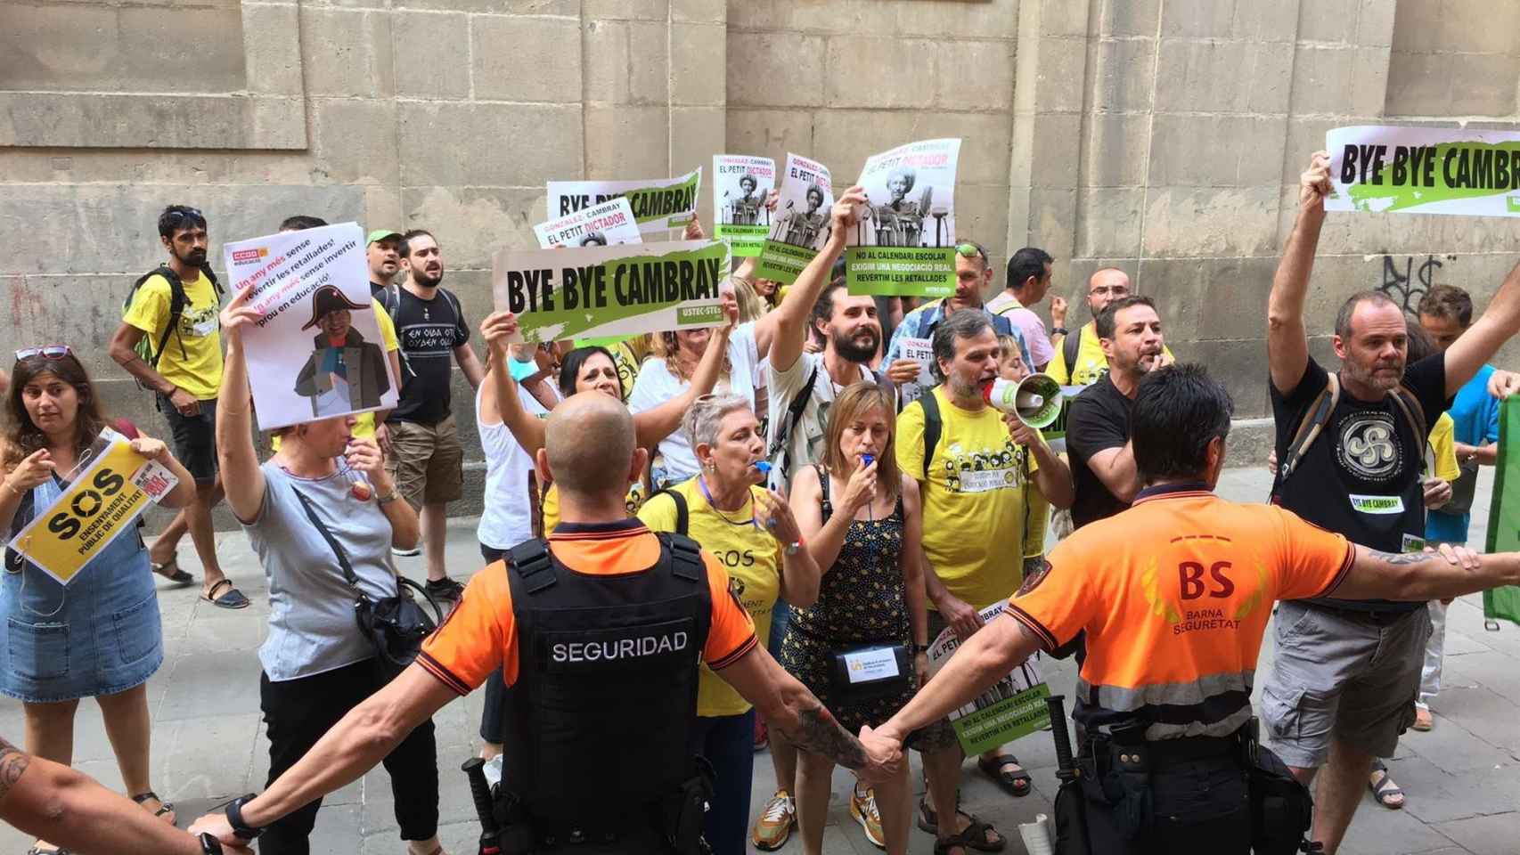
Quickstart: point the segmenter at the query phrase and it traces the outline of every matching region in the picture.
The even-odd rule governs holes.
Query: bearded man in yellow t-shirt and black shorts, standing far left
[[[222,386],[222,333],[217,325],[220,287],[205,260],[205,216],[169,205],[158,217],[158,240],[169,260],[138,279],[120,327],[111,336],[111,358],[157,393],[169,422],[175,457],[195,477],[195,501],[187,504],[149,550],[154,573],[181,585],[193,582],[175,556],[190,532],[205,569],[201,597],[223,609],[243,609],[248,597],[233,586],[216,559],[211,509],[222,501],[216,471],[216,393]],[[144,342],[146,337],[146,342]],[[150,352],[138,352],[146,343]]]

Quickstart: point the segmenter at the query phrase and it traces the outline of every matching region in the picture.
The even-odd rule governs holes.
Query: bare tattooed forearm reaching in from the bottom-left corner
[[[81,855],[201,855],[201,843],[94,779],[0,738],[0,819]],[[223,847],[225,852],[248,852]]]

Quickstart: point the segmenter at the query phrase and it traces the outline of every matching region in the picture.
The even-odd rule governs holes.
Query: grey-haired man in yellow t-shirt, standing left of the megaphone
[[[923,497],[929,638],[948,627],[965,642],[983,626],[980,610],[1020,585],[1035,494],[1069,507],[1072,474],[1038,430],[982,398],[999,377],[997,334],[985,313],[952,314],[935,330],[933,354],[941,384],[898,415],[897,465],[918,478]],[[1002,849],[997,831],[958,808],[964,755],[950,723],[921,730],[918,749],[929,779],[918,828],[936,834],[935,850]],[[1031,791],[1029,773],[1000,746],[977,767],[1015,796]]]

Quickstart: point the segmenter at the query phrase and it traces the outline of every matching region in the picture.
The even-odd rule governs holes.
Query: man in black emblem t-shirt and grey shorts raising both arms
[[[1268,301],[1277,459],[1272,501],[1388,553],[1424,545],[1424,437],[1452,396],[1520,333],[1520,267],[1444,354],[1406,364],[1403,310],[1380,292],[1336,316],[1330,375],[1309,355],[1304,301],[1330,193],[1330,158],[1300,179],[1298,220]],[[1333,401],[1333,407],[1332,407]],[[1304,442],[1319,425],[1316,439]],[[1284,601],[1262,714],[1272,747],[1306,784],[1318,776],[1312,840],[1333,853],[1362,800],[1374,756],[1392,756],[1414,721],[1430,620],[1424,603]]]

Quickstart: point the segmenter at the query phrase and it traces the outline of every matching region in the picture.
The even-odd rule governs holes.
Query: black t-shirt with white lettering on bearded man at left
[[[438,424],[448,418],[454,348],[470,340],[459,301],[444,289],[421,299],[397,287],[395,339],[401,345],[401,399],[392,422]]]

